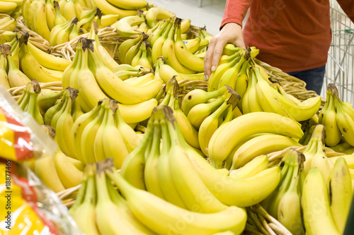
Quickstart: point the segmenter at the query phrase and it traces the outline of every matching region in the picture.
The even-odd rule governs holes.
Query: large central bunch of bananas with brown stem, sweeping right
[[[278,167],[249,171],[242,179],[229,176],[227,170],[218,171],[188,146],[173,110],[164,105],[154,109],[142,142],[127,156],[120,174],[132,186],[178,207],[203,213],[219,212],[227,205],[246,207],[259,203],[280,179]],[[259,181],[263,183],[256,186]],[[219,183],[222,186],[215,187]],[[259,193],[247,197],[255,186],[261,187]]]

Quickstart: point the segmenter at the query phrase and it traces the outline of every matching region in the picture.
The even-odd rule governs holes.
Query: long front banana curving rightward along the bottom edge
[[[107,174],[122,191],[132,214],[157,234],[215,234],[227,230],[241,234],[246,226],[246,212],[239,207],[227,207],[222,212],[209,214],[190,212],[130,186],[119,174]],[[161,207],[164,210],[158,209]],[[184,221],[185,226],[178,227],[178,221]]]

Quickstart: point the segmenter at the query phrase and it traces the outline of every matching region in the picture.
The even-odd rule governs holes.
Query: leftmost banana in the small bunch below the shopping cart
[[[338,128],[336,122],[336,110],[335,110],[335,101],[333,97],[333,92],[331,89],[327,90],[327,97],[326,97],[326,111],[319,114],[321,116],[320,124],[324,125],[326,131],[326,137],[324,138],[324,142],[327,146],[334,146],[338,145],[341,141],[341,131]]]

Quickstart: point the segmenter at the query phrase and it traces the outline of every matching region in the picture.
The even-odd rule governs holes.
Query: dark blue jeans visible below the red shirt
[[[314,90],[317,95],[320,95],[322,85],[324,84],[324,73],[326,71],[326,65],[319,68],[312,68],[304,71],[296,71],[288,73],[295,78],[303,80],[307,85],[307,90]]]

